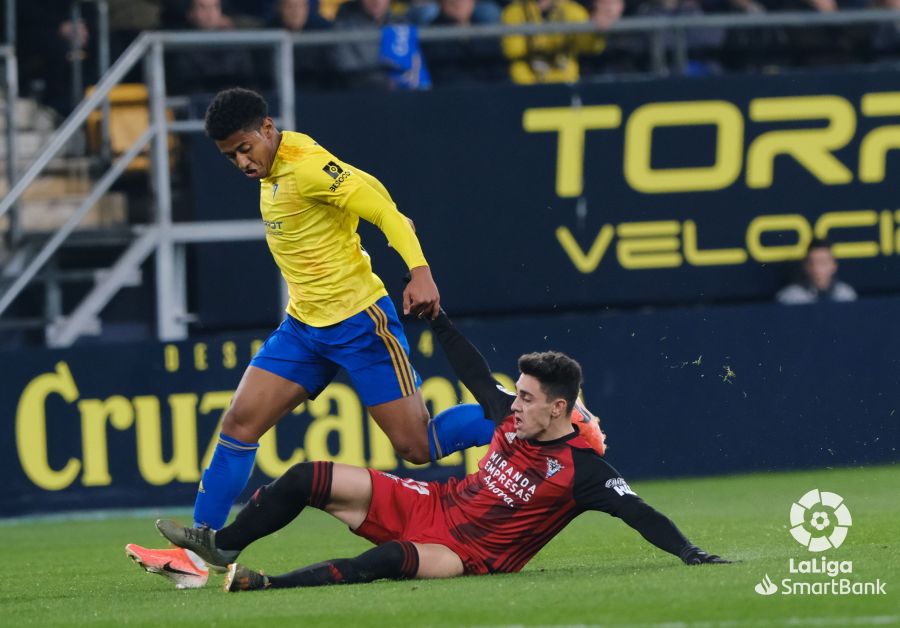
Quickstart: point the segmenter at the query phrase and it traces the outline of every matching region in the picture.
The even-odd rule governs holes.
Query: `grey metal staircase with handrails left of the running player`
[[[110,90],[138,64],[143,63],[149,92],[150,124],[132,145],[118,156],[108,170],[85,190],[73,203],[67,218],[46,237],[17,238],[15,248],[6,252],[0,272],[0,316],[17,297],[34,282],[57,287],[47,290],[48,315],[44,325],[49,346],[70,346],[79,337],[99,333],[100,313],[123,288],[140,282],[141,267],[155,256],[156,327],[161,340],[179,340],[187,336],[190,315],[187,311],[185,276],[185,246],[189,243],[223,240],[259,239],[263,230],[258,221],[225,221],[210,223],[175,223],[172,220],[170,158],[168,137],[171,132],[196,131],[202,121],[169,121],[166,117],[166,87],[163,51],[171,47],[215,47],[229,45],[269,45],[275,52],[278,68],[280,108],[284,112],[279,123],[293,126],[293,46],[289,34],[275,31],[247,31],[231,33],[143,33],[110,67],[95,89],[75,108],[69,118],[47,139],[43,150],[18,178],[9,193],[0,200],[0,220],[20,204],[26,193],[58,164],[66,145],[76,139],[90,113],[103,106]],[[152,222],[112,231],[107,244],[123,246],[121,254],[106,269],[77,270],[68,274],[55,271],[53,260],[63,246],[78,246],[79,225],[86,216],[96,212],[98,202],[108,197],[112,185],[123,175],[129,164],[146,148],[150,149],[150,180],[153,191]],[[21,229],[21,220],[17,221]],[[96,236],[96,234],[95,234]],[[49,270],[48,270],[49,269]],[[60,279],[92,279],[93,286],[70,312],[62,312],[58,292]],[[49,285],[49,284],[48,284]],[[44,320],[49,318],[50,320]],[[3,321],[4,319],[0,319]],[[36,320],[9,321],[6,325],[34,327]]]

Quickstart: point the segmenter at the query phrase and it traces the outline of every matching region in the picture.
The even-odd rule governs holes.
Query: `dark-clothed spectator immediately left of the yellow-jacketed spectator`
[[[475,21],[475,0],[441,0],[434,26],[468,26]],[[436,87],[496,83],[506,78],[506,61],[493,37],[427,41],[422,44],[425,62]]]

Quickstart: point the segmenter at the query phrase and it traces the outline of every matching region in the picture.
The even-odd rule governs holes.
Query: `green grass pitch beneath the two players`
[[[900,466],[644,482],[633,488],[695,543],[740,561],[686,567],[622,522],[587,513],[519,574],[376,582],[225,594],[223,577],[176,591],[125,557],[162,546],[151,517],[11,522],[3,543],[0,623],[51,625],[900,625]],[[820,556],[788,532],[791,503],[812,488],[842,495],[853,526],[829,559],[851,579],[887,583],[884,596],[763,597],[754,585],[791,576],[788,559]],[[184,515],[185,513],[181,513]],[[182,516],[187,520],[187,516]],[[308,509],[257,542],[242,562],[269,573],[353,556],[368,544]],[[839,576],[842,577],[842,576]]]

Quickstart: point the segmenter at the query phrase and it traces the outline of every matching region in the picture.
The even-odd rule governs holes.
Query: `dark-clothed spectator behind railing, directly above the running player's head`
[[[186,18],[189,27],[200,31],[234,27],[234,20],[222,12],[220,0],[192,0]],[[253,57],[246,48],[189,48],[173,51],[170,58],[175,93],[211,93],[229,85],[258,84]]]

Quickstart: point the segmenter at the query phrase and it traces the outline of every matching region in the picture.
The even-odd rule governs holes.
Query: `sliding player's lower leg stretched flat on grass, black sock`
[[[240,564],[229,566],[226,591],[361,584],[374,580],[452,578],[464,572],[463,562],[446,545],[388,541],[355,558],[335,558],[279,576],[266,576]]]

